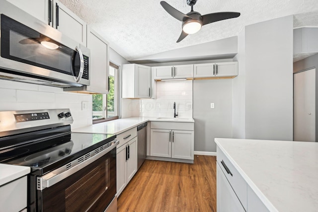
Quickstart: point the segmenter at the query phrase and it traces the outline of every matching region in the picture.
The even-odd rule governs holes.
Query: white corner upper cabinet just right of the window
[[[122,67],[122,98],[151,97],[151,68],[139,64]]]

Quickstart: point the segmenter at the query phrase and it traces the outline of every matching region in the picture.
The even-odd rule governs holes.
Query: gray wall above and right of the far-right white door
[[[316,68],[316,142],[318,142],[318,54],[294,63],[294,73],[311,68]]]

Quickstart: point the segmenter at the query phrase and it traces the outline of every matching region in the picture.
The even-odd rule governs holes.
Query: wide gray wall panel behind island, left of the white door
[[[293,140],[293,16],[245,27],[245,137]]]

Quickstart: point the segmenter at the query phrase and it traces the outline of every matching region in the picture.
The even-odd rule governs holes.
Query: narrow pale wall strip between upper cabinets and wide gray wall
[[[238,61],[239,75],[233,79],[233,138],[245,138],[245,29],[238,36],[238,54],[234,57]]]

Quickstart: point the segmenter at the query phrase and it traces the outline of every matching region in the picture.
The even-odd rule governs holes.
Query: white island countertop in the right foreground
[[[318,211],[318,143],[215,138],[270,211]]]

